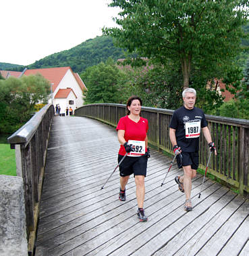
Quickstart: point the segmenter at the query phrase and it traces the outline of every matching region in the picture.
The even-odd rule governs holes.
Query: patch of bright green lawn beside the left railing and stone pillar
[[[15,150],[9,144],[0,144],[0,175],[16,176]]]

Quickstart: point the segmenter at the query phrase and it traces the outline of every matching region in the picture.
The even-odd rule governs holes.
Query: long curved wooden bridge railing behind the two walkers
[[[158,150],[173,154],[169,140],[169,123],[173,110],[142,107],[141,115],[148,119],[148,140]],[[76,109],[76,116],[88,116],[112,126],[116,126],[121,116],[126,115],[123,104],[90,104]],[[206,115],[209,129],[218,155],[212,156],[209,173],[221,179],[240,194],[249,192],[249,121],[223,116]],[[200,136],[200,168],[206,169],[209,146]]]

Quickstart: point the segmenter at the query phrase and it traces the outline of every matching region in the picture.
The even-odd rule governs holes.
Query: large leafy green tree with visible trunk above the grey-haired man
[[[116,23],[121,28],[104,28],[119,47],[161,64],[179,64],[183,86],[190,85],[193,68],[215,77],[224,73],[240,51],[246,24],[247,1],[242,0],[112,0],[121,8]],[[217,72],[215,72],[217,70]]]

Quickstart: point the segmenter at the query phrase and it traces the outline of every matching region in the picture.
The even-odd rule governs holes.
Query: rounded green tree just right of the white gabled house
[[[107,60],[107,63],[101,62],[87,68],[80,76],[88,89],[84,93],[85,104],[118,101],[117,81],[121,76],[121,71],[110,59]]]

